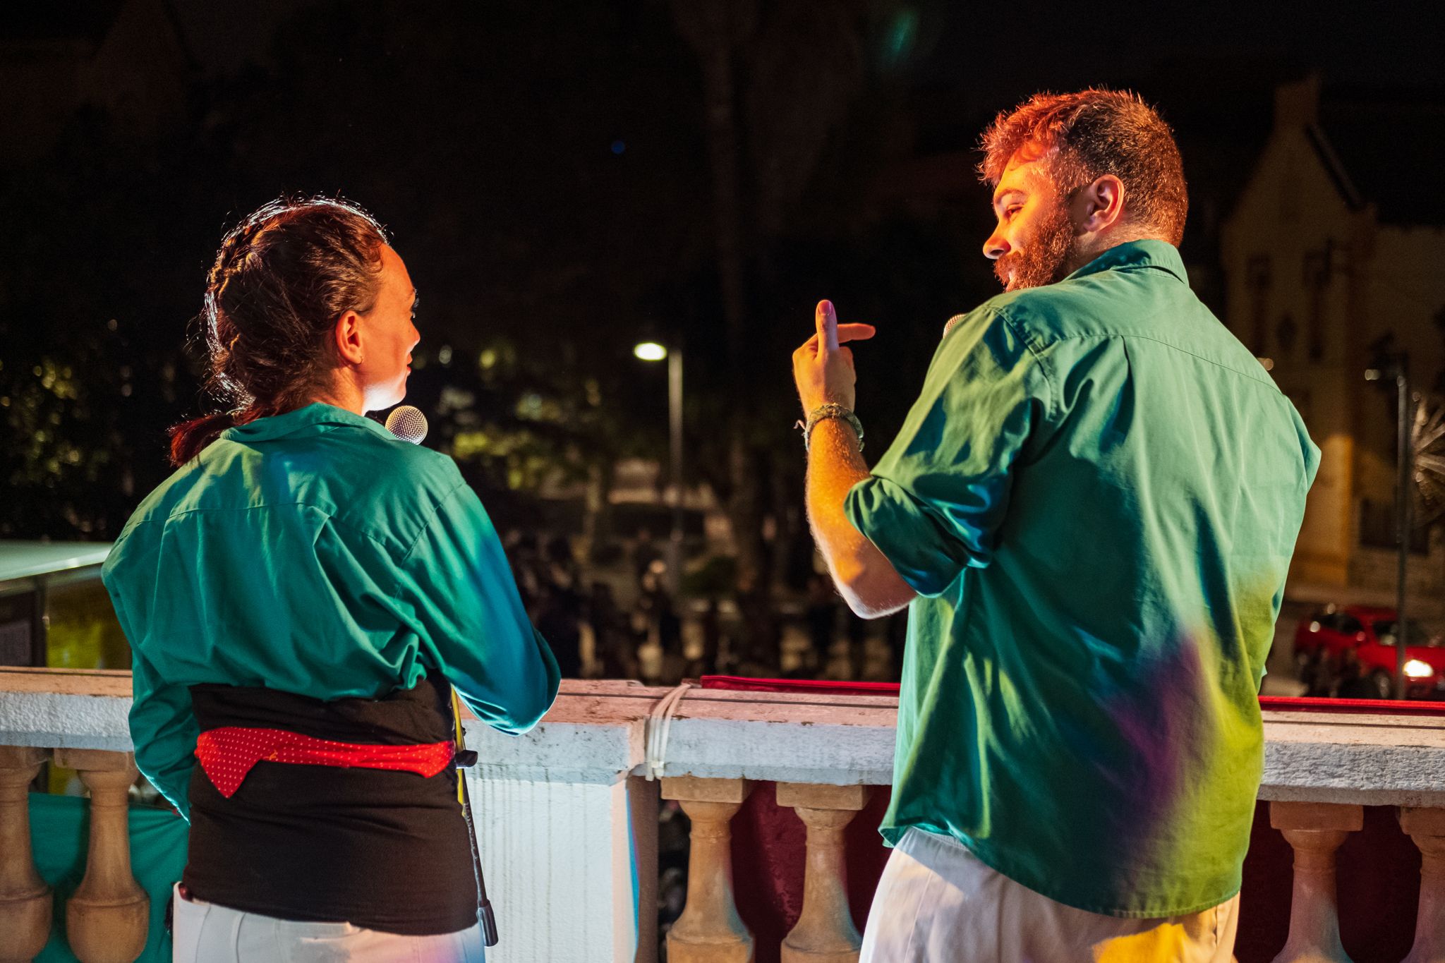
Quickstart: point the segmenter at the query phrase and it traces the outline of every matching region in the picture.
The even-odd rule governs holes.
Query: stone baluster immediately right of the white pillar
[[[663,777],[663,798],[682,803],[692,820],[688,904],[668,931],[668,963],[751,963],[753,934],[733,899],[733,816],[747,798],[747,780]]]

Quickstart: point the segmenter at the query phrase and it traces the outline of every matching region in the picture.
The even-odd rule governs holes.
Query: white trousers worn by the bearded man
[[[1230,963],[1240,898],[1126,920],[1065,907],[951,836],[909,829],[889,856],[858,963]]]

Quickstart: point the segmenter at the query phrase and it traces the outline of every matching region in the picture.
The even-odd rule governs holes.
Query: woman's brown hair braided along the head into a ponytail
[[[376,303],[386,243],[376,218],[337,198],[277,198],[231,228],[199,319],[207,388],[225,407],[171,429],[172,463],[325,387],[334,360],[327,334],[345,312]]]

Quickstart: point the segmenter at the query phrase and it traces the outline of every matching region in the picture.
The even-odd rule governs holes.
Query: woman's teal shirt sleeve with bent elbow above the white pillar
[[[442,501],[400,569],[428,661],[483,722],[512,733],[535,726],[556,697],[561,673],[468,485]]]

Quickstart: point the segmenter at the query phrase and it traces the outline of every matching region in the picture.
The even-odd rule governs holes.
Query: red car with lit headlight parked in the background
[[[1445,699],[1445,638],[1406,621],[1406,699]],[[1334,605],[1300,619],[1295,664],[1309,696],[1390,699],[1394,694],[1394,609]]]

